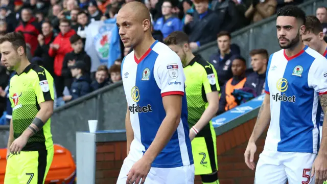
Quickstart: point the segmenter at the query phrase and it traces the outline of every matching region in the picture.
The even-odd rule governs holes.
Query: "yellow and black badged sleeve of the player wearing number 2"
[[[208,63],[208,62],[207,62]],[[214,66],[210,63],[204,66],[204,72],[202,74],[202,83],[205,94],[213,91],[219,91],[218,76]]]

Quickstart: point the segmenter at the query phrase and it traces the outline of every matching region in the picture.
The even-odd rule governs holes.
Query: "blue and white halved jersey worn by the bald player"
[[[122,79],[134,131],[128,156],[135,162],[151,145],[166,117],[162,98],[182,95],[181,118],[166,147],[152,167],[173,168],[193,164],[189,138],[188,107],[184,95],[185,76],[177,54],[164,43],[155,41],[139,60],[134,51],[122,62]]]

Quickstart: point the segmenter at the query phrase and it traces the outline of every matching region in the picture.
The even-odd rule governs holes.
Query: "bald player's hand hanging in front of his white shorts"
[[[141,183],[145,182],[145,179],[151,169],[151,162],[147,160],[145,157],[139,159],[131,168],[131,170],[127,173],[126,184],[129,183]]]

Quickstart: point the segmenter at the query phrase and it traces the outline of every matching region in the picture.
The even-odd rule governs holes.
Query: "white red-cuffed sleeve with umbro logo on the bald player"
[[[161,89],[161,97],[167,95],[184,95],[185,75],[178,55],[170,52],[162,54],[154,65],[154,77]]]

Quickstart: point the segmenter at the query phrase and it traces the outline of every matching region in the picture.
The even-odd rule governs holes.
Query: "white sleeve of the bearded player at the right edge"
[[[327,59],[316,58],[311,64],[308,74],[308,84],[319,95],[327,94]]]

